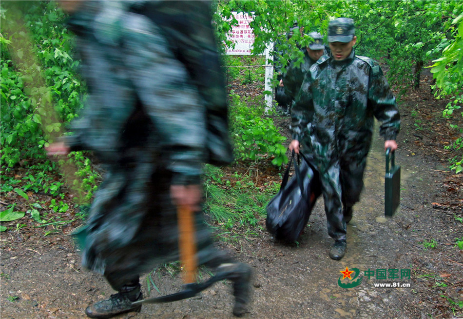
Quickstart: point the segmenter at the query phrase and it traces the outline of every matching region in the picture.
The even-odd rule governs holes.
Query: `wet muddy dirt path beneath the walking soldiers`
[[[440,173],[432,169],[439,165],[398,152],[396,161],[403,168],[402,203],[409,208],[401,206],[393,219],[384,218],[382,144],[376,138],[368,157],[366,189],[348,225],[344,259],[328,257],[332,239],[327,235],[323,200],[317,203],[299,246],[274,242],[262,232],[236,247],[234,255],[255,270],[254,298],[247,318],[410,318],[403,308],[403,300],[410,299],[416,288],[410,279],[363,278],[351,289],[337,283],[339,272],[346,267],[360,269],[361,276],[368,269],[413,269],[414,254],[409,252],[417,249],[414,237],[418,228],[424,227],[422,220],[431,214],[431,206],[425,203],[438,191],[433,185]],[[411,225],[404,229],[407,223]],[[82,311],[89,303],[112,293],[99,276],[80,269],[78,252],[69,238],[50,240],[60,244],[38,239],[3,249],[1,268],[8,278],[2,278],[2,318],[85,318]],[[178,278],[167,274],[154,280],[161,293],[174,292],[180,286]],[[410,283],[411,287],[376,288],[374,282]],[[221,282],[197,298],[144,306],[136,318],[230,318],[230,289]],[[19,299],[10,301],[9,296]]]

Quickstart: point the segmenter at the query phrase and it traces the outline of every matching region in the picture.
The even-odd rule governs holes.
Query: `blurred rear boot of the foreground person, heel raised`
[[[251,266],[241,262],[225,263],[217,268],[217,272],[231,272],[228,279],[233,281],[233,296],[235,297],[233,315],[236,317],[243,316],[248,310],[251,301]]]

